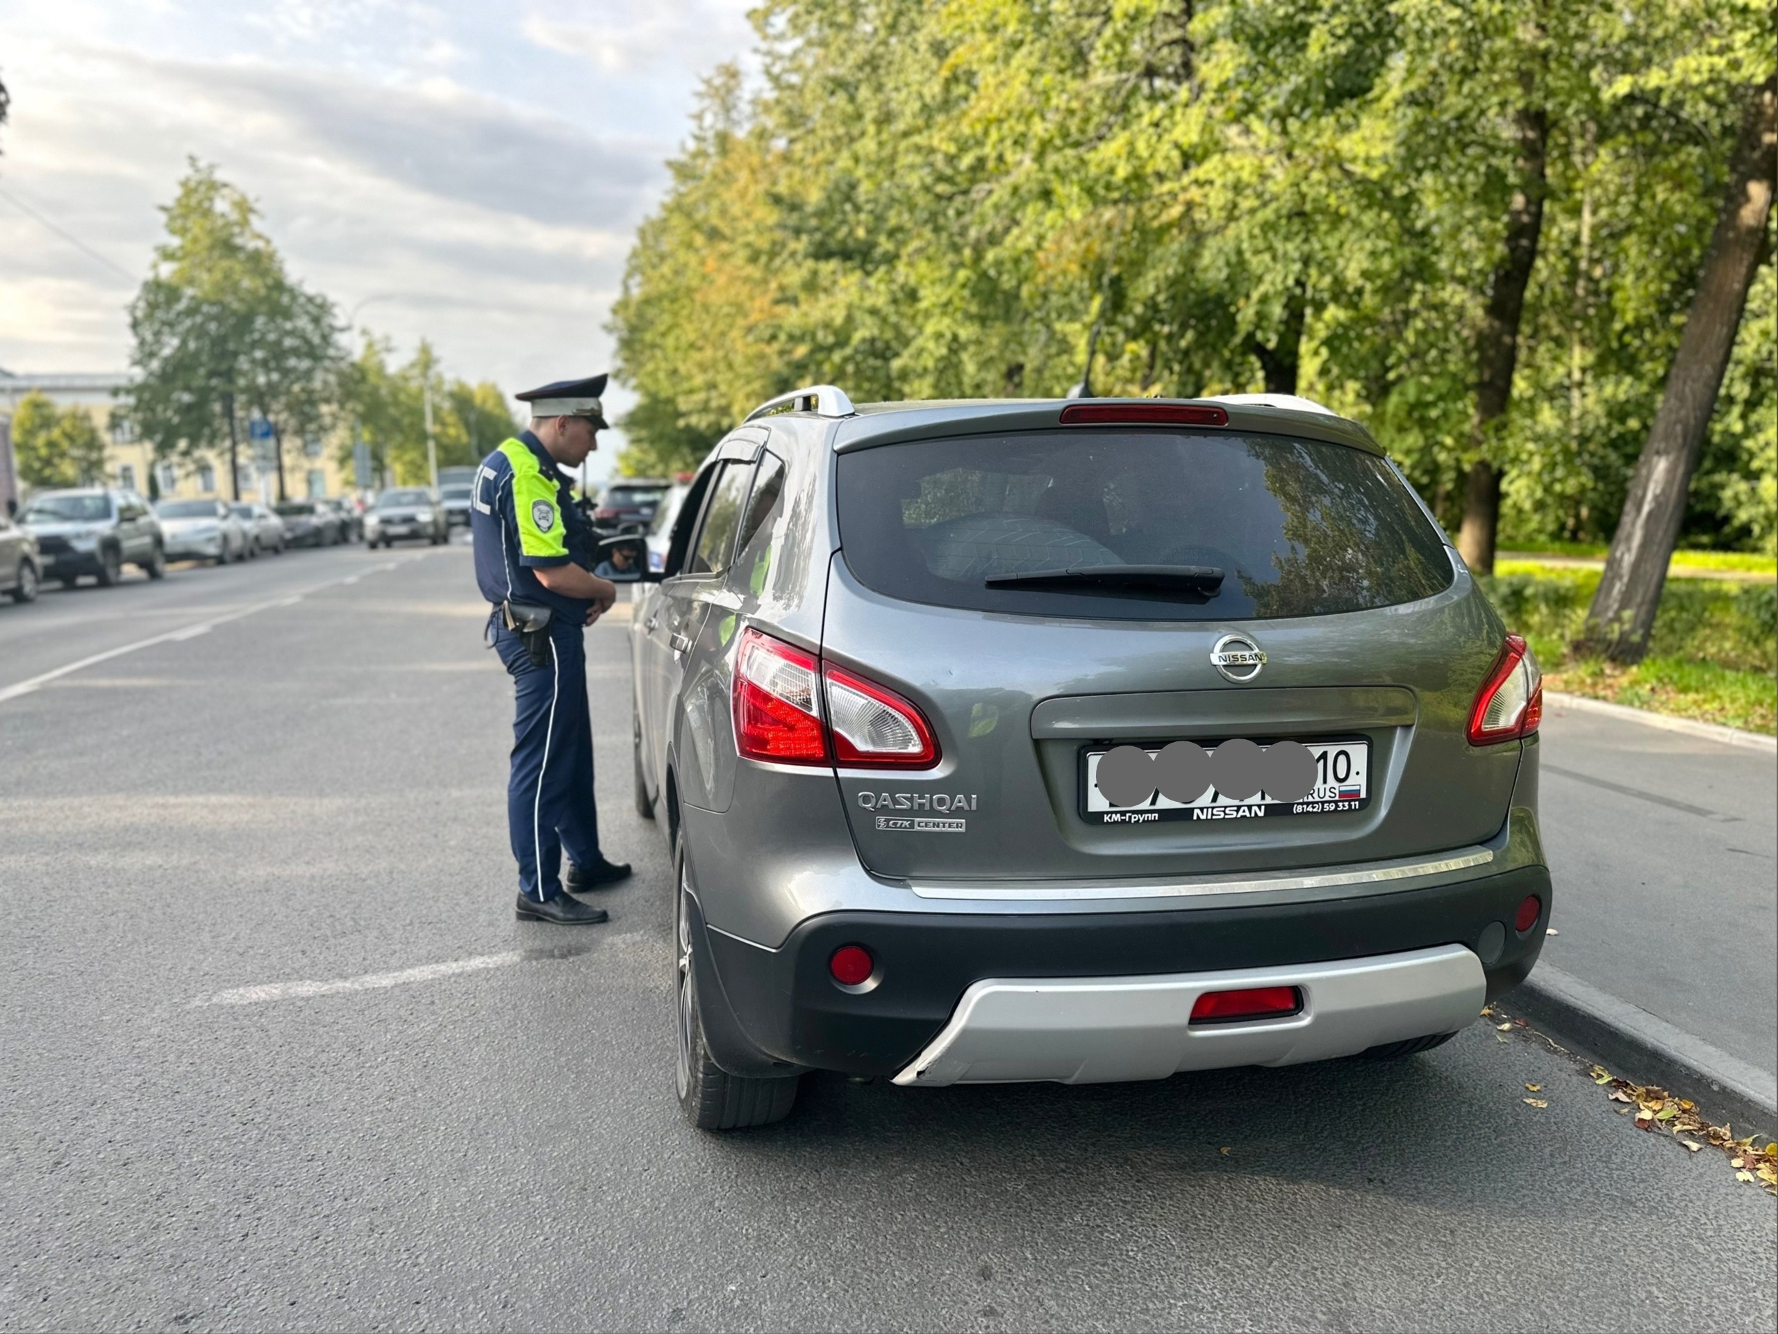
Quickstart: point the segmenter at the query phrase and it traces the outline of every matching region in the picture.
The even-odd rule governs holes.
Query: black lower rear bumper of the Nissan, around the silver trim
[[[1527,895],[1536,895],[1543,909],[1529,930],[1517,932],[1513,920]],[[1149,912],[823,912],[775,950],[706,930],[701,914],[692,927],[699,996],[709,1010],[704,1028],[718,1065],[734,1074],[834,1069],[894,1076],[928,1051],[965,994],[983,982],[1147,985],[1186,978],[1184,985],[1195,985],[1205,975],[1301,971],[1462,946],[1481,975],[1479,989],[1462,992],[1462,1023],[1453,1021],[1447,1000],[1431,998],[1417,1017],[1412,1005],[1406,1017],[1392,1012],[1390,1025],[1403,1017],[1414,1032],[1371,1037],[1362,1046],[1447,1033],[1474,1019],[1485,1000],[1526,978],[1543,946],[1549,912],[1549,870],[1533,864],[1428,889],[1303,904]],[[862,944],[877,959],[868,991],[845,991],[830,978],[827,960],[841,944]],[[1278,1058],[1273,1048],[1236,1042],[1191,1051],[1221,1053],[1216,1065],[1261,1057],[1273,1064],[1319,1058]]]

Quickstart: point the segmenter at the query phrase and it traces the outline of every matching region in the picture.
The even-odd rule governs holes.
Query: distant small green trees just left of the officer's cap
[[[405,366],[389,365],[389,343],[366,338],[345,375],[345,402],[357,436],[370,446],[372,468],[396,486],[423,486],[427,478],[425,391],[432,391],[432,438],[439,468],[480,462],[500,441],[523,427],[507,407],[500,386],[446,379],[432,345]],[[340,445],[340,464],[350,468],[354,439]]]

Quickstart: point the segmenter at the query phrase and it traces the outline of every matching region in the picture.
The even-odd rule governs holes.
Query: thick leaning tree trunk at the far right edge
[[[1728,190],[1703,256],[1698,292],[1686,315],[1666,391],[1630,475],[1606,573],[1586,614],[1582,647],[1614,662],[1648,651],[1666,567],[1686,521],[1686,493],[1703,452],[1716,393],[1735,349],[1741,311],[1766,244],[1766,219],[1778,176],[1778,78],[1751,89],[1735,135]]]

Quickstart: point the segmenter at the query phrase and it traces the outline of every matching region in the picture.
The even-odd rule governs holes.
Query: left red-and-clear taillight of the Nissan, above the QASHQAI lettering
[[[939,742],[912,701],[750,628],[734,658],[734,749],[779,765],[939,763]]]

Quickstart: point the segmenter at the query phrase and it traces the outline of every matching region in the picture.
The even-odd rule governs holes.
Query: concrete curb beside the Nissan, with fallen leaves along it
[[[1737,1135],[1778,1129],[1778,1076],[1771,1071],[1559,968],[1538,964],[1499,1009],[1529,1019],[1620,1078],[1691,1097]]]

